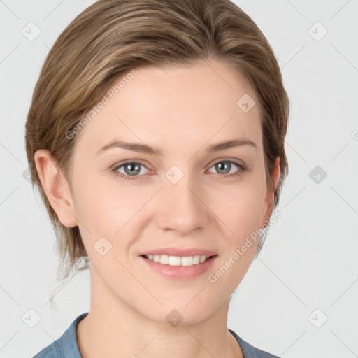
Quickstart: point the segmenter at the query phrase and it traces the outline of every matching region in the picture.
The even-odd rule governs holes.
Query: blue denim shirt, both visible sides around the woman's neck
[[[87,315],[88,312],[79,315],[61,337],[43,348],[43,350],[38,352],[33,358],[82,358],[80,350],[78,349],[76,329],[78,322]],[[236,341],[238,341],[244,358],[280,358],[277,355],[271,355],[268,352],[252,347],[252,345],[243,341],[234,331],[231,331],[231,329],[229,329],[229,331],[236,338]]]

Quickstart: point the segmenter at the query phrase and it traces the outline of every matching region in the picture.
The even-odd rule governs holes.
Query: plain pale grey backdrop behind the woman
[[[88,271],[56,292],[57,310],[48,303],[55,234],[26,177],[24,124],[48,50],[93,2],[0,1],[0,358],[32,357],[90,308]],[[291,116],[282,217],[234,294],[228,327],[280,357],[358,357],[358,2],[235,2],[273,47]]]

